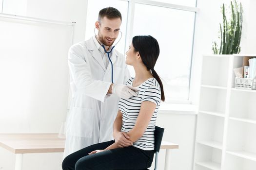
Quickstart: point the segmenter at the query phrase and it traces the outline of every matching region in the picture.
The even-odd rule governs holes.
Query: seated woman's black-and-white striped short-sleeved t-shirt
[[[125,85],[132,85],[134,78]],[[122,113],[122,127],[121,132],[129,132],[134,128],[136,120],[138,118],[141,102],[150,101],[156,103],[157,107],[154,114],[148,124],[146,131],[136,142],[133,143],[134,147],[142,150],[154,150],[154,132],[158,114],[158,108],[161,101],[161,90],[158,81],[155,78],[150,78],[141,85],[138,86],[138,96],[131,97],[129,99],[120,99],[119,110]],[[150,113],[149,113],[150,114]]]

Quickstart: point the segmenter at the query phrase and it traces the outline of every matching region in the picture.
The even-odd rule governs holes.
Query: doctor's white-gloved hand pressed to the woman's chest
[[[138,96],[134,87],[128,85],[113,84],[112,93],[118,95],[118,97],[122,99],[129,99],[132,96]]]

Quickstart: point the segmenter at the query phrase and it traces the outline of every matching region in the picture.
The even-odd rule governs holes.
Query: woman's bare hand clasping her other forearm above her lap
[[[129,140],[129,136],[125,132],[117,132],[114,134],[115,143],[119,148],[132,146],[133,142]]]

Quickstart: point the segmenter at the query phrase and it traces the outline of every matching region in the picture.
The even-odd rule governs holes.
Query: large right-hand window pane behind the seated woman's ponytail
[[[135,35],[152,35],[160,55],[155,66],[166,101],[188,100],[195,12],[135,4]]]

